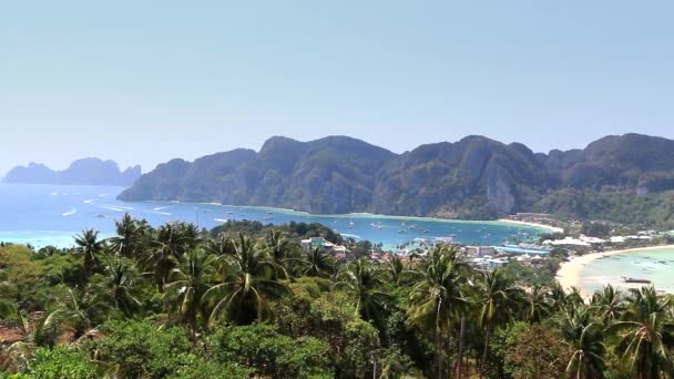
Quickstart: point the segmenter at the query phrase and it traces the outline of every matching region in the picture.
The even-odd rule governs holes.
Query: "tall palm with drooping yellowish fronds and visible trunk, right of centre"
[[[443,337],[449,335],[469,305],[462,288],[467,278],[461,267],[453,249],[435,248],[422,267],[422,278],[410,293],[407,321],[433,335],[439,378],[443,376]]]

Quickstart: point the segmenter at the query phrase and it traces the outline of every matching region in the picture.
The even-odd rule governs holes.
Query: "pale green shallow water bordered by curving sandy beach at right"
[[[592,260],[581,272],[583,294],[592,294],[606,284],[622,289],[637,288],[623,277],[649,279],[656,289],[674,294],[674,248],[627,252]]]

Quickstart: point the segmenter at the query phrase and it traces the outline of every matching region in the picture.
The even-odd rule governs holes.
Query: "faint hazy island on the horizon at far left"
[[[114,161],[88,157],[74,161],[67,170],[54,171],[40,163],[12,168],[3,183],[21,184],[68,184],[68,185],[115,185],[130,186],[141,177],[141,166],[124,171]]]

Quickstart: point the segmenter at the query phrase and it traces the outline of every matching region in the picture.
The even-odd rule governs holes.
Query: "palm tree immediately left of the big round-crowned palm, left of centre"
[[[206,319],[208,313],[204,294],[215,279],[215,260],[217,257],[195,248],[176,263],[171,270],[170,283],[164,287],[164,298],[173,305],[173,311],[187,325],[192,339],[196,340],[198,317]]]

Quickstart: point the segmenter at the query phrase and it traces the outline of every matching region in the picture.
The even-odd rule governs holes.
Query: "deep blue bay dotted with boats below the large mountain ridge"
[[[0,240],[35,246],[71,246],[72,236],[94,228],[102,236],[114,233],[114,221],[124,213],[157,226],[185,221],[213,228],[227,219],[265,224],[292,221],[321,223],[356,239],[382,243],[387,248],[412,242],[456,235],[466,244],[500,245],[513,237],[535,236],[541,228],[500,222],[462,222],[369,214],[310,215],[289,209],[218,204],[120,202],[122,187],[0,184]]]

